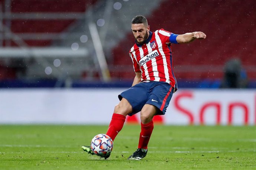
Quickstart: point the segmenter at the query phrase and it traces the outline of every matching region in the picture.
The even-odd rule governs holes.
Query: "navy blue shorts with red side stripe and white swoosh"
[[[118,95],[118,98],[120,101],[122,98],[125,98],[131,104],[132,113],[129,116],[140,112],[145,104],[157,107],[156,115],[164,115],[173,96],[173,89],[166,82],[142,82],[122,92]]]

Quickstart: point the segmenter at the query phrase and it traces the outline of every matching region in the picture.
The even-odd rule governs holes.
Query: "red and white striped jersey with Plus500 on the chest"
[[[135,43],[129,51],[134,71],[142,73],[141,81],[163,81],[177,89],[173,72],[171,34],[173,33],[164,29],[150,32],[143,45]]]

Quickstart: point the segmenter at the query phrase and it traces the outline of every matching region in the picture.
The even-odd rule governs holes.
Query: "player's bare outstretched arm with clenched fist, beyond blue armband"
[[[195,39],[205,39],[205,38],[206,38],[206,34],[199,31],[199,32],[178,35],[176,37],[176,41],[177,43],[182,44],[182,43],[190,43]]]

